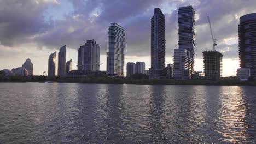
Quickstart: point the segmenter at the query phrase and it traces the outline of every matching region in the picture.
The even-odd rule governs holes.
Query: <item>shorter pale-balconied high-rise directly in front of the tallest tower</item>
[[[190,51],[187,49],[174,49],[173,79],[189,79]]]

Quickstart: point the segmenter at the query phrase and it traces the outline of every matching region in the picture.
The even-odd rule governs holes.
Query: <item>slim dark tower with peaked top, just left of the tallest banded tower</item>
[[[154,9],[151,19],[151,68],[150,79],[165,77],[165,15]]]

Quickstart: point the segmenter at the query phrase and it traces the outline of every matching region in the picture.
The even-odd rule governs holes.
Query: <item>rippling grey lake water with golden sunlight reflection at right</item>
[[[0,143],[256,143],[256,87],[0,83]]]

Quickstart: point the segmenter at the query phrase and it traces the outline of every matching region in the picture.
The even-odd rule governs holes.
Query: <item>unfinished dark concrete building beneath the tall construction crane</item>
[[[220,79],[222,77],[222,53],[218,51],[203,51],[202,53],[205,79]]]

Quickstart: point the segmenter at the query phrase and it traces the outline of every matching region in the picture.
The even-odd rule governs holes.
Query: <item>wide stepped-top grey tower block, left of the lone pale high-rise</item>
[[[94,39],[87,40],[78,49],[78,70],[99,71],[100,70],[100,46]]]

